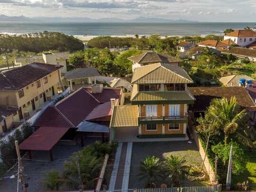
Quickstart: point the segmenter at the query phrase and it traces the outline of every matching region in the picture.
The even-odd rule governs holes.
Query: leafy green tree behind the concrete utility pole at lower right
[[[233,146],[232,164],[234,165],[232,173],[239,175],[246,170],[247,157],[244,154],[244,150],[240,148],[236,142],[231,141],[228,145],[218,143],[218,145],[212,146],[212,151],[218,156],[223,164],[227,165],[231,145]],[[227,166],[225,167],[227,168]]]

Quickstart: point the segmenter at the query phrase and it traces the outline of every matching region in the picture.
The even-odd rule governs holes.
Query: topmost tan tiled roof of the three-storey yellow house
[[[182,67],[155,63],[135,68],[131,83],[193,83],[193,81]]]

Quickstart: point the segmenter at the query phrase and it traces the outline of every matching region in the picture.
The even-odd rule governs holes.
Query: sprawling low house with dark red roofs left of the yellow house
[[[108,135],[109,129],[106,127],[108,128],[109,125],[111,108],[118,104],[122,90],[102,88],[96,93],[95,90],[97,88],[80,88],[55,106],[45,109],[33,125],[39,128],[27,140],[20,143],[20,150],[29,150],[29,158],[31,158],[31,150],[49,150],[53,159],[52,147],[60,139],[74,140],[80,127],[79,132],[89,134],[100,132],[103,138],[104,133]],[[85,127],[81,124],[83,122],[86,123]],[[83,144],[83,140],[81,142]]]

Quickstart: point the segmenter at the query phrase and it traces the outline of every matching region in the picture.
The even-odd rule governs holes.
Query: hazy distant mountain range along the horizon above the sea
[[[161,18],[138,17],[136,19],[124,20],[119,18],[91,19],[88,17],[9,17],[0,15],[0,21],[23,21],[23,22],[197,22],[192,20],[170,20]]]

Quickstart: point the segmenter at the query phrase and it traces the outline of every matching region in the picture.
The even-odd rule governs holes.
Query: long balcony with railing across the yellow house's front
[[[185,116],[139,116],[139,124],[151,123],[186,123],[188,115]]]

